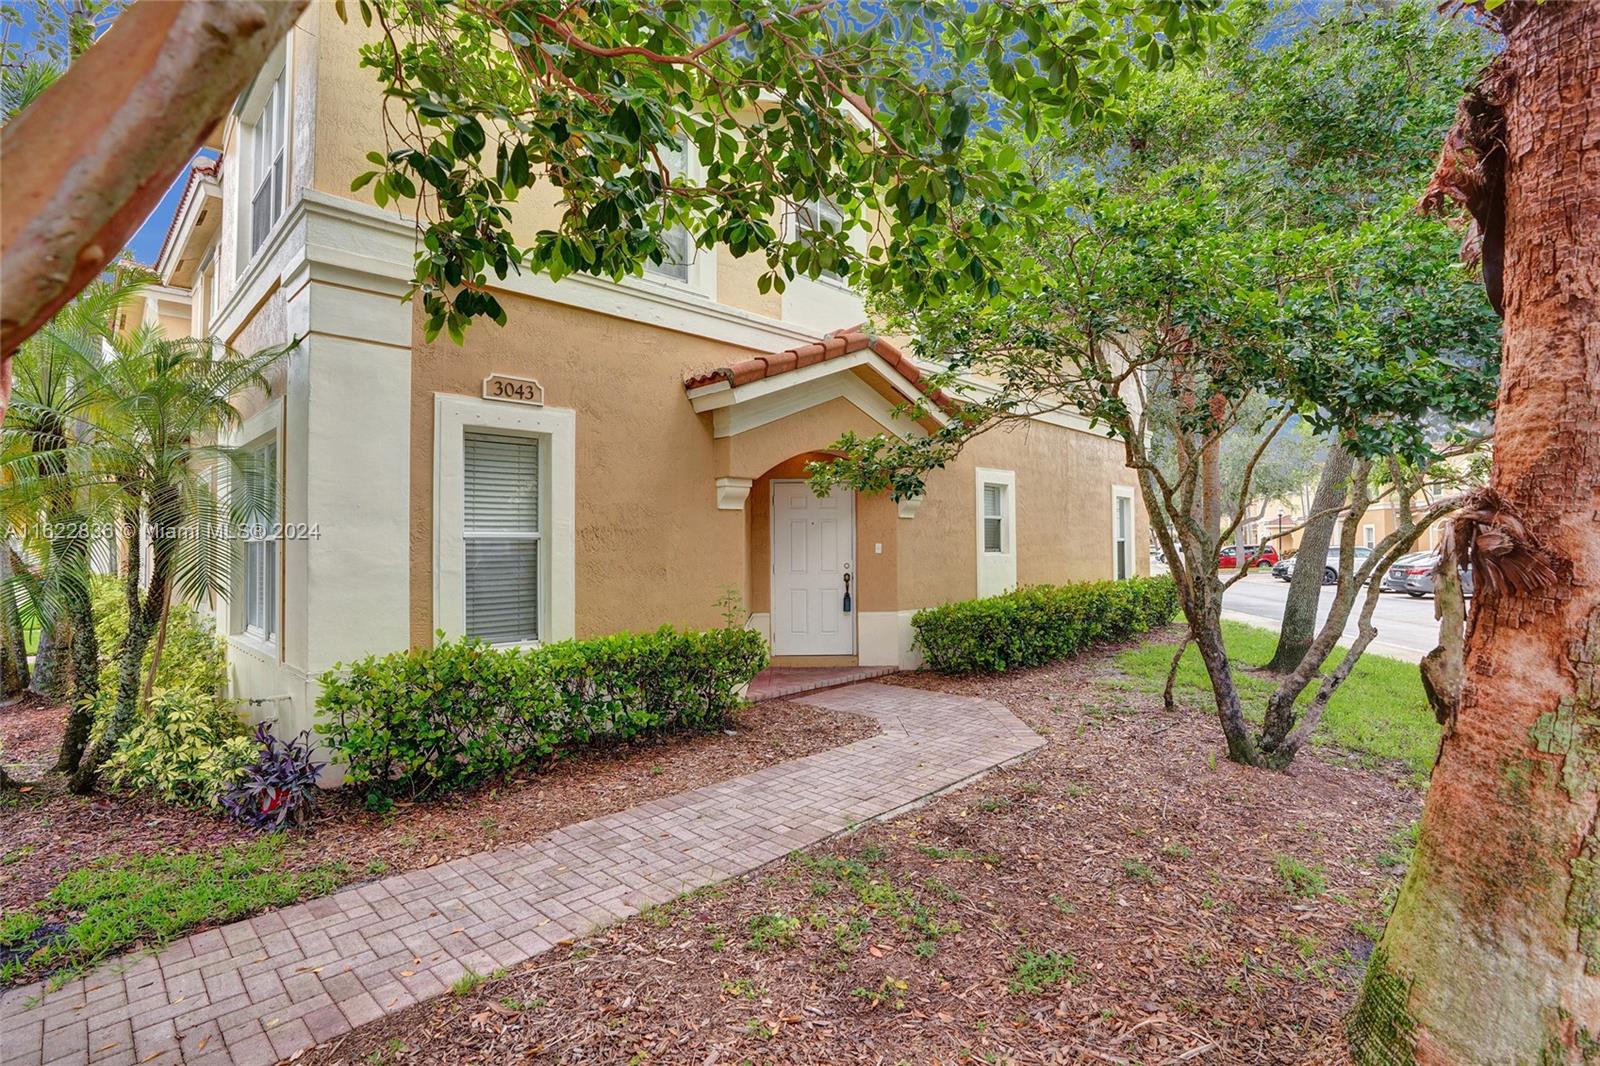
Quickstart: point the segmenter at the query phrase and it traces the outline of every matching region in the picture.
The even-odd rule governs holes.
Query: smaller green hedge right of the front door
[[[1125,640],[1173,619],[1170,576],[1035,584],[917,611],[910,624],[931,669],[942,674],[1042,666],[1102,640]]]

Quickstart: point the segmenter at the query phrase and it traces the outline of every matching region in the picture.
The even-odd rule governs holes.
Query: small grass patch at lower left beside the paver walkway
[[[54,984],[134,946],[158,948],[349,880],[344,863],[288,871],[283,834],[214,852],[112,855],[74,871],[45,900],[0,919],[0,983],[54,972]]]

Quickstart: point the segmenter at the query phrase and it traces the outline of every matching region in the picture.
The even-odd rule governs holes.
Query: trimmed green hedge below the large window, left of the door
[[[456,640],[323,674],[318,730],[349,784],[418,797],[555,752],[715,728],[763,666],[766,642],[747,629]]]

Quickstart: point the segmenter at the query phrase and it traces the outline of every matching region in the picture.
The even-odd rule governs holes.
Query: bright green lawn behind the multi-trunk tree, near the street
[[[1222,623],[1229,658],[1234,663],[1234,679],[1245,703],[1245,717],[1259,723],[1266,712],[1267,696],[1277,688],[1272,674],[1262,674],[1261,666],[1272,658],[1278,634],[1258,626]],[[1142,643],[1123,651],[1117,664],[1133,675],[1147,691],[1160,691],[1166,683],[1166,667],[1173,659],[1168,643]],[[1331,671],[1344,659],[1344,648],[1334,648],[1323,671]],[[1306,688],[1301,703],[1309,703],[1317,691],[1314,682]],[[1211,682],[1200,651],[1189,645],[1178,666],[1176,695],[1189,706],[1211,706]],[[1438,754],[1438,723],[1422,695],[1422,677],[1416,663],[1390,659],[1368,651],[1328,703],[1317,733],[1317,744],[1333,744],[1350,751],[1395,759],[1419,776],[1434,767]]]

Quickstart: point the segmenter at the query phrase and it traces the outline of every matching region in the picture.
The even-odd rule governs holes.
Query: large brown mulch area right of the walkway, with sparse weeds
[[[1214,717],[1128,690],[1114,650],[896,683],[998,699],[1048,746],[299,1061],[1347,1061],[1421,810],[1403,767],[1229,763]]]

